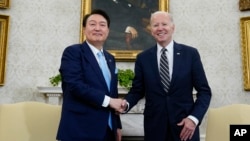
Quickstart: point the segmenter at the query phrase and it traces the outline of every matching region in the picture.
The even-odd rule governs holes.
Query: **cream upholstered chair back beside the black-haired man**
[[[61,106],[40,102],[0,105],[0,141],[56,141]]]

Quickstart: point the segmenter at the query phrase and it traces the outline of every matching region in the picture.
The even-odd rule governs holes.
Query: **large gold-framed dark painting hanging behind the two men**
[[[80,42],[83,42],[86,39],[86,37],[83,35],[84,29],[82,26],[82,20],[83,20],[84,15],[90,13],[91,9],[93,8],[103,9],[108,13],[111,19],[110,32],[109,32],[108,39],[105,42],[105,49],[115,56],[116,61],[120,61],[120,62],[135,61],[138,53],[140,53],[142,50],[149,48],[155,44],[155,41],[153,37],[151,36],[150,31],[147,30],[149,27],[148,26],[149,18],[150,18],[149,14],[157,10],[169,11],[169,0],[158,0],[158,1],[152,0],[151,3],[148,5],[146,4],[143,5],[143,3],[139,5],[138,3],[136,3],[136,0],[134,0],[134,2],[133,0],[120,0],[119,2],[123,3],[123,6],[125,5],[128,7],[125,10],[122,10],[121,7],[117,6],[119,4],[118,1],[110,0],[110,3],[108,3],[109,0],[105,0],[103,2],[102,1],[103,0],[99,0],[99,1],[98,0],[82,0],[81,18],[80,18],[81,20],[80,21],[81,23],[80,24]],[[127,3],[124,4],[125,2]],[[117,8],[119,8],[118,10],[114,10],[113,12],[109,11],[111,9],[112,10],[115,9],[116,6]],[[107,7],[107,9],[104,9],[105,7]],[[145,10],[147,10],[147,12],[143,12]],[[127,13],[127,12],[132,12],[132,11],[133,11],[132,14]],[[122,12],[125,14],[121,15]],[[120,15],[117,15],[119,16],[119,18],[113,18],[115,17],[115,14],[117,13],[120,13]],[[132,20],[129,20],[128,16],[131,16],[131,15],[135,15],[138,18],[131,17]],[[116,19],[119,19],[119,20],[115,21]],[[126,30],[128,27],[133,27],[133,26],[130,26],[130,24],[132,25],[132,23],[129,23],[129,22],[131,21],[135,22],[135,19],[140,20],[140,22],[136,22],[135,24],[133,24],[136,27],[138,27],[138,29],[135,28],[138,31],[137,32],[138,36],[136,39],[131,39],[131,38],[129,39],[131,35],[127,34]],[[142,24],[142,26],[139,26],[138,23]],[[112,28],[112,24],[114,25],[113,27],[117,27],[119,29]],[[127,24],[128,26],[126,28],[122,28],[123,24]],[[138,26],[136,24],[138,24]],[[120,29],[122,30],[122,32],[119,31],[118,33],[118,30]]]

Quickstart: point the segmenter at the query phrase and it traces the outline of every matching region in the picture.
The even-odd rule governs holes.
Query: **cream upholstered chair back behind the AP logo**
[[[210,108],[207,120],[206,141],[229,141],[230,124],[250,124],[250,105]]]

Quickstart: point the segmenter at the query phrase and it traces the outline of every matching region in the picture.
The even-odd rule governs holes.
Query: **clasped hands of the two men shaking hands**
[[[121,98],[110,98],[109,107],[115,109],[118,114],[125,113],[128,109],[127,100]]]

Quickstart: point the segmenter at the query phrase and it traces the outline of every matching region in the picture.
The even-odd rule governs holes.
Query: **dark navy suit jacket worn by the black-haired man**
[[[118,97],[117,72],[114,57],[104,51],[111,72],[110,91],[98,62],[86,42],[67,47],[61,58],[63,105],[57,139],[102,141],[109,112],[112,112],[113,131],[121,128],[118,115],[102,107],[104,96]]]

